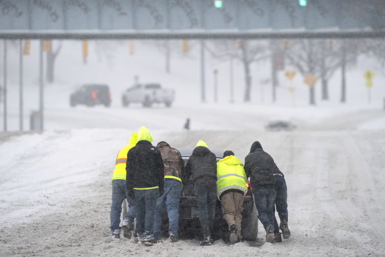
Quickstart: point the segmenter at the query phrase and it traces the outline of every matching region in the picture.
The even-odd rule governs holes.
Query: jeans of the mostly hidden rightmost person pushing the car
[[[286,180],[284,177],[275,175],[276,177],[276,186],[277,186],[277,197],[276,197],[276,207],[279,219],[288,221],[288,212],[287,212],[287,186]],[[275,216],[276,208],[274,212],[274,233],[279,233],[279,226]]]

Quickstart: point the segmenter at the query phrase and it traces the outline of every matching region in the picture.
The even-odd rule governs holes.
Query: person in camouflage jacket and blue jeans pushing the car
[[[170,147],[166,142],[159,142],[156,148],[161,151],[163,163],[165,165],[165,185],[164,194],[156,201],[154,219],[154,239],[161,240],[162,235],[162,212],[163,204],[166,203],[166,210],[169,220],[170,239],[172,242],[178,241],[178,221],[179,221],[179,201],[182,196],[182,172],[185,162],[179,151]]]

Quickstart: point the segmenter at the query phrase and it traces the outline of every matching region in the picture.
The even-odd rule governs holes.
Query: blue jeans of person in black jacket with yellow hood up
[[[133,189],[137,206],[138,238],[153,239],[154,213],[159,189]],[[144,234],[144,235],[143,235]]]

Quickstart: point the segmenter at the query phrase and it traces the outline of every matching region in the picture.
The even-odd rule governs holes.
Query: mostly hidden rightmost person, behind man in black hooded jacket
[[[288,211],[287,211],[287,186],[285,176],[277,165],[274,163],[274,177],[276,178],[276,186],[277,186],[277,197],[276,197],[276,207],[279,219],[281,220],[280,225],[278,226],[278,222],[275,216],[276,208],[274,208],[274,235],[276,242],[282,242],[281,233],[279,230],[281,229],[282,235],[284,239],[288,239],[290,237],[290,230],[287,225],[288,221]]]

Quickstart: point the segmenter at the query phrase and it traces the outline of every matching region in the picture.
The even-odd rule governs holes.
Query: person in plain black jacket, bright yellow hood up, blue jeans
[[[152,246],[156,200],[163,195],[164,165],[161,152],[151,144],[153,138],[146,127],[138,133],[138,143],[127,154],[128,197],[137,208],[137,242]]]

